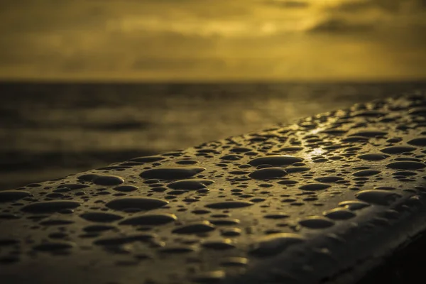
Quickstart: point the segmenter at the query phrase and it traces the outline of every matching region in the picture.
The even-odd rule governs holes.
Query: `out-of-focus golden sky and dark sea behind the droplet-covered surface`
[[[425,0],[2,0],[0,190],[426,87]]]

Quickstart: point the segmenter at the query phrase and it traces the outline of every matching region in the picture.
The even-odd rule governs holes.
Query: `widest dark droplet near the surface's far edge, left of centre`
[[[197,173],[206,170],[201,167],[175,167],[175,168],[154,168],[146,170],[140,174],[141,178],[158,178],[161,180],[180,180],[191,178]]]

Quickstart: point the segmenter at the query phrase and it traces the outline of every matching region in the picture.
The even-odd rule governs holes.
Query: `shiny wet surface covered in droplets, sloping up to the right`
[[[220,282],[348,224],[397,222],[426,193],[425,146],[412,96],[1,191],[0,268],[91,251],[146,283]]]

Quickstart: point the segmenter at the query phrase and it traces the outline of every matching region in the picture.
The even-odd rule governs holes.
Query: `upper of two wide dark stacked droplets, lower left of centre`
[[[111,200],[106,205],[115,210],[125,210],[135,208],[141,210],[151,210],[163,207],[168,204],[168,201],[160,200],[151,197],[123,197],[116,200]]]

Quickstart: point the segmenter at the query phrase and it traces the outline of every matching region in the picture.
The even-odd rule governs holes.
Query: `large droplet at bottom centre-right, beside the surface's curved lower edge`
[[[299,234],[268,234],[259,238],[249,252],[254,256],[275,256],[288,249],[289,246],[304,241],[305,237]]]

